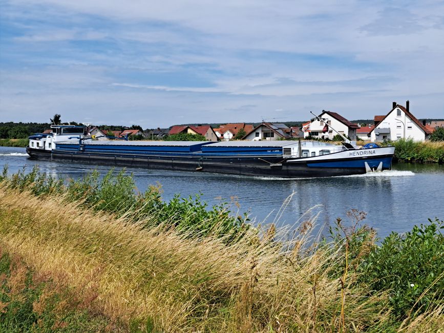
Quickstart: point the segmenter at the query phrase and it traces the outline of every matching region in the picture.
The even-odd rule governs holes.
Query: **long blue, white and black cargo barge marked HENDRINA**
[[[358,149],[318,141],[98,140],[86,127],[51,126],[34,134],[30,158],[91,165],[212,172],[242,176],[309,178],[364,174],[391,168],[394,147]]]

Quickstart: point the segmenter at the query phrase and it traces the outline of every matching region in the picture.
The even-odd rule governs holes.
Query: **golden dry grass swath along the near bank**
[[[251,229],[227,246],[142,224],[0,185],[1,244],[37,272],[83,290],[92,308],[115,321],[154,321],[168,332],[336,332],[389,319],[384,296],[369,296],[352,272],[342,290],[331,277],[339,253],[310,251],[307,233],[277,243],[272,228],[262,237]],[[436,311],[403,329],[438,327]]]

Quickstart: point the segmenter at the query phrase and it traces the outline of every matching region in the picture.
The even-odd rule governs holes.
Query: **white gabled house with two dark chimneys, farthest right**
[[[422,124],[410,113],[410,102],[406,107],[393,102],[392,109],[386,116],[375,116],[374,129],[370,132],[372,141],[399,140],[411,138],[415,141],[428,139],[433,130]]]

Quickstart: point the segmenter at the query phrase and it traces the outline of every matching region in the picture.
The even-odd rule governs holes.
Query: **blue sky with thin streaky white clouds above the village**
[[[0,122],[444,118],[444,1],[0,0]]]

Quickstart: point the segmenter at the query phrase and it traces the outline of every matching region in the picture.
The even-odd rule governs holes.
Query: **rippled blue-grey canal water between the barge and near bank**
[[[0,168],[4,164],[8,164],[9,173],[24,165],[31,170],[38,164],[42,172],[75,179],[93,169],[102,175],[111,169],[103,165],[36,161],[28,158],[24,148],[0,147]],[[176,193],[188,196],[200,192],[210,205],[230,202],[232,211],[248,211],[251,219],[262,224],[276,222],[297,227],[298,221],[319,214],[316,223],[324,226],[336,218],[348,221],[346,212],[356,209],[366,212],[364,222],[384,237],[391,231],[407,232],[414,224],[426,223],[428,218],[444,219],[443,165],[396,163],[392,170],[381,173],[312,179],[127,170],[133,173],[139,191],[160,183],[165,200]]]

